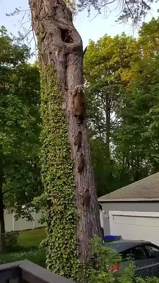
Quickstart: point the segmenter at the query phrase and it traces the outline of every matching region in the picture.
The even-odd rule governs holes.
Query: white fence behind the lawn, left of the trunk
[[[20,218],[15,220],[15,213],[7,214],[7,210],[4,211],[4,222],[5,222],[5,231],[21,231],[27,229],[34,229],[38,227],[44,227],[46,224],[40,224],[39,219],[41,217],[41,212],[32,212],[33,221],[28,221],[26,218]]]

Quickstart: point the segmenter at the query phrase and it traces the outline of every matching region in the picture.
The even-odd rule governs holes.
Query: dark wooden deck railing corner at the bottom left
[[[29,260],[0,265],[0,283],[73,283]]]

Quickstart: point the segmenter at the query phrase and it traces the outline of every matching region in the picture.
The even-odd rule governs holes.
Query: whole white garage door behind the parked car
[[[151,241],[159,246],[158,212],[109,211],[110,234],[125,240]]]

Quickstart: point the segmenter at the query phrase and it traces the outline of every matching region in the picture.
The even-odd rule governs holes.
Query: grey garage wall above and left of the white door
[[[109,215],[109,211],[145,211],[159,212],[159,202],[106,202],[102,203],[102,210]],[[104,235],[110,235],[109,218],[103,219]]]

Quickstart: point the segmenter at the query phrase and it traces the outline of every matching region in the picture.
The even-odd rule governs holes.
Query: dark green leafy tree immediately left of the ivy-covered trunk
[[[16,204],[17,212],[29,217],[27,206],[30,207],[36,192],[42,190],[39,164],[39,71],[36,66],[29,64],[23,64],[14,71],[14,93],[10,102],[7,100],[5,109],[8,123],[4,136],[7,160],[3,190],[5,204]],[[14,143],[10,133],[16,137]],[[22,205],[25,205],[25,209],[22,209]]]

